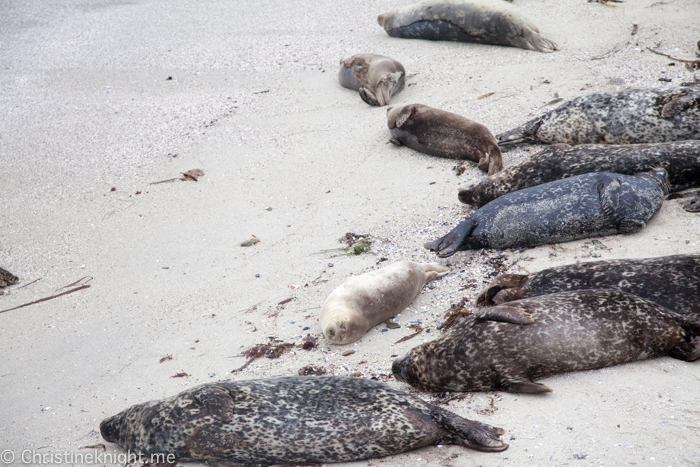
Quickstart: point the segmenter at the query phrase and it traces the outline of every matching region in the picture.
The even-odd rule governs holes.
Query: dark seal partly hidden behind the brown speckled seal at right
[[[660,286],[663,284],[662,286]],[[477,305],[582,289],[615,289],[681,314],[700,316],[700,254],[569,264],[533,274],[500,274]]]

